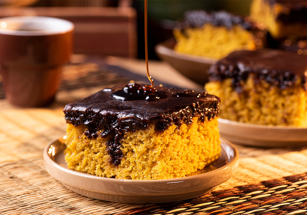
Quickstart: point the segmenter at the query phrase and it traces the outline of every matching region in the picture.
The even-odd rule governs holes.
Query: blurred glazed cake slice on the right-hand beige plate
[[[220,118],[307,127],[307,57],[273,49],[236,51],[209,69]]]

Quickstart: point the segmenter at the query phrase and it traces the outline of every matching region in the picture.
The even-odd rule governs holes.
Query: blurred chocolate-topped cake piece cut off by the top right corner
[[[307,37],[307,1],[254,0],[250,16],[264,24],[274,38]]]

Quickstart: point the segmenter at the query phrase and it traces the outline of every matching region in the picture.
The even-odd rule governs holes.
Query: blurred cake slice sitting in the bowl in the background
[[[235,50],[262,48],[266,30],[241,16],[225,11],[187,11],[173,32],[174,50],[220,59]]]

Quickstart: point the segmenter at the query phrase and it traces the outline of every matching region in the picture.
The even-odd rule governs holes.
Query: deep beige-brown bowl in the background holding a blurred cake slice
[[[203,85],[208,82],[207,70],[216,63],[216,59],[179,53],[173,50],[174,45],[173,38],[156,45],[155,51],[158,57],[196,83]]]

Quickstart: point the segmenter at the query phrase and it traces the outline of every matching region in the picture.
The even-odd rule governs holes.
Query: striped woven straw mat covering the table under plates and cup
[[[76,194],[45,170],[43,150],[65,135],[64,105],[126,81],[115,67],[71,65],[56,102],[18,108],[0,100],[0,214],[307,214],[307,148],[236,145],[239,170],[204,196],[163,204],[124,204]],[[80,70],[76,80],[70,70]],[[92,69],[92,70],[91,70]],[[103,79],[93,78],[93,75]],[[118,73],[120,74],[120,73]],[[79,76],[80,77],[80,76]],[[69,80],[71,79],[71,81]],[[91,86],[95,80],[95,86]],[[82,82],[82,87],[80,86]],[[86,85],[86,83],[88,85]],[[306,134],[307,135],[307,134]]]

